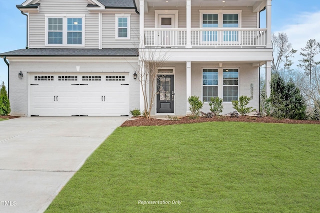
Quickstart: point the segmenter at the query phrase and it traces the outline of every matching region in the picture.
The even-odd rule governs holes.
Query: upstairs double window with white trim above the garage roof
[[[84,46],[84,15],[45,17],[45,46]]]

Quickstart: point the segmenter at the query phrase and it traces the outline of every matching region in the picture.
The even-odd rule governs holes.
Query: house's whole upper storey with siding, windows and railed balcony
[[[110,2],[26,0],[18,8],[28,13],[28,47],[271,48],[271,0]]]

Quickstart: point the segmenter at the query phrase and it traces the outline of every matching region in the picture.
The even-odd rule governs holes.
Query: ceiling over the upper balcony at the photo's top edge
[[[135,0],[137,7],[139,0]],[[230,7],[230,6],[261,6],[265,0],[191,0],[195,7]],[[150,7],[185,7],[186,0],[144,0],[144,6]]]

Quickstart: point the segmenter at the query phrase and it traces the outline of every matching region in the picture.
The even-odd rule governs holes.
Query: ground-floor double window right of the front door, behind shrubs
[[[209,102],[212,97],[222,98],[223,102],[238,100],[238,76],[238,68],[203,68],[202,101]]]

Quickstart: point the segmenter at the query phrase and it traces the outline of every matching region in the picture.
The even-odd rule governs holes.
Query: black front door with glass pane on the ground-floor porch
[[[156,77],[156,112],[173,113],[174,75],[157,75]]]

